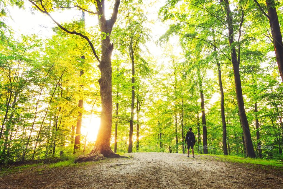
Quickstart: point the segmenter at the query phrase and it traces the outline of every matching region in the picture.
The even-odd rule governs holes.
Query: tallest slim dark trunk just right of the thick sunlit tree
[[[133,147],[133,130],[134,130],[134,105],[135,105],[135,63],[133,51],[133,38],[130,40],[130,58],[132,63],[132,98],[131,98],[131,118],[130,118],[130,132],[129,132],[129,147],[128,153],[132,152]]]

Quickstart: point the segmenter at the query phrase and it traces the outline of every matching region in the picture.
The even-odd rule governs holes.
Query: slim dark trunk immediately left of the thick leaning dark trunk
[[[216,51],[216,48],[214,47],[214,51]],[[225,120],[225,111],[224,111],[224,92],[223,92],[223,86],[222,86],[222,78],[221,78],[221,67],[220,63],[218,62],[218,58],[216,57],[217,61],[217,69],[218,69],[218,83],[219,83],[219,89],[220,89],[220,109],[221,109],[221,120],[222,120],[222,143],[223,143],[223,154],[228,155],[227,150],[227,131],[226,131],[226,120]]]

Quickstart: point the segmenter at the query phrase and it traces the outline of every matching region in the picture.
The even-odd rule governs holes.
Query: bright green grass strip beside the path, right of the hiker
[[[219,160],[223,162],[232,163],[243,163],[243,164],[256,164],[262,165],[263,167],[277,167],[283,170],[283,162],[269,159],[259,159],[259,158],[245,158],[238,156],[224,156],[224,155],[213,155],[213,154],[199,154],[202,159]]]

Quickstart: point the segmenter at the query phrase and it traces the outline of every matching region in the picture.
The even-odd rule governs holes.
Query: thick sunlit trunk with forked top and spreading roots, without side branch
[[[110,147],[111,129],[112,129],[112,65],[111,56],[113,43],[110,42],[110,35],[114,23],[117,19],[120,0],[116,0],[113,8],[111,19],[106,20],[104,12],[104,0],[97,1],[96,9],[98,11],[98,23],[101,30],[101,61],[98,68],[101,77],[98,80],[101,97],[101,123],[98,130],[96,143],[90,154],[80,156],[75,162],[85,162],[99,160],[103,157],[121,157],[115,154]],[[107,34],[107,35],[106,35]]]

